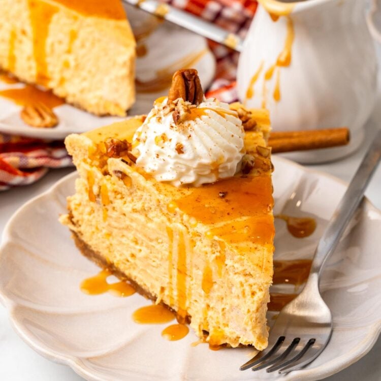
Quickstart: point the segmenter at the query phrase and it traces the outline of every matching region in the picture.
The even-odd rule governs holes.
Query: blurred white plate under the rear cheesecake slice
[[[153,16],[129,7],[128,15],[134,30],[153,22]],[[142,26],[144,24],[144,26]],[[138,33],[138,32],[137,32]],[[175,72],[184,62],[194,57],[192,66],[198,70],[203,88],[207,88],[215,73],[215,58],[208,48],[205,38],[170,22],[159,25],[145,40],[147,54],[137,58],[136,77],[142,82],[155,78],[155,73],[165,68]],[[181,49],[174,47],[181,46]],[[20,87],[21,84],[9,85],[0,81],[0,90]],[[155,92],[138,92],[136,103],[129,110],[129,115],[147,114],[153,101],[168,94],[168,89]],[[25,124],[20,117],[21,106],[0,97],[0,131],[41,139],[63,139],[71,133],[80,134],[94,128],[120,121],[116,116],[96,116],[74,106],[64,104],[54,108],[59,124],[53,129],[38,129]]]

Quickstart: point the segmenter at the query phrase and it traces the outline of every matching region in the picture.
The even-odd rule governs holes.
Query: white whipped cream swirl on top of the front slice
[[[204,100],[197,107],[182,99],[156,101],[133,139],[136,164],[157,181],[200,186],[234,176],[244,155],[244,130],[226,103]],[[174,112],[180,121],[174,122]]]

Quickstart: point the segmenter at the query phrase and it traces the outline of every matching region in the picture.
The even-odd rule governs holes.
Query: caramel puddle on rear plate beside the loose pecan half
[[[31,85],[1,90],[0,97],[7,98],[20,106],[43,103],[50,109],[65,103],[62,98],[55,96],[51,90],[44,90]]]

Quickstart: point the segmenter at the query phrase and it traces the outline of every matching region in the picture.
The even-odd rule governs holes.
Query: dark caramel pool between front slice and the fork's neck
[[[274,261],[273,284],[303,284],[308,279],[311,263],[309,259]]]

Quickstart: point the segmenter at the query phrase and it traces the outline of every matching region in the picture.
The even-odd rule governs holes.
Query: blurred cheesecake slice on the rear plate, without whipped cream
[[[97,115],[135,101],[135,39],[119,0],[3,0],[0,69]]]

